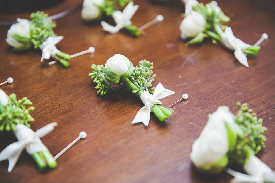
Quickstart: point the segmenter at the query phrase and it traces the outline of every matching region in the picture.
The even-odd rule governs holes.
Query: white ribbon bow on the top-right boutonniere
[[[246,67],[248,67],[248,62],[245,53],[245,49],[249,47],[249,44],[244,43],[240,39],[236,38],[230,27],[226,27],[224,34],[221,36],[221,42],[227,47],[234,51],[236,59]]]

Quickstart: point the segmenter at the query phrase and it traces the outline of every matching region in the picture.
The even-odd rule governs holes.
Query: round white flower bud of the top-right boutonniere
[[[191,11],[180,24],[180,37],[186,39],[188,37],[196,37],[204,30],[206,21],[203,15],[196,11]]]

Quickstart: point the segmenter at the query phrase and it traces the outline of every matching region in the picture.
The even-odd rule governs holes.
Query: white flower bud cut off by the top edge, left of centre
[[[102,10],[97,5],[103,5],[104,0],[84,0],[81,11],[82,19],[91,21],[102,16]]]

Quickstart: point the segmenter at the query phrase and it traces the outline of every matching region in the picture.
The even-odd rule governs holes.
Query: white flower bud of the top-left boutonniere
[[[19,43],[12,36],[15,34],[18,34],[22,37],[30,38],[30,22],[27,19],[20,19],[20,18],[17,18],[17,22],[18,23],[11,25],[11,28],[9,28],[6,41],[12,47],[20,49],[25,45],[22,43]]]

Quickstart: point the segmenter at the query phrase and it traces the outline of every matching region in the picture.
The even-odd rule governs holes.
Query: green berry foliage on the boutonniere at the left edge
[[[34,118],[29,114],[30,111],[34,110],[34,107],[30,105],[32,105],[32,102],[27,97],[17,101],[16,95],[11,94],[7,106],[1,105],[0,131],[4,129],[6,131],[15,131],[17,124],[25,124],[30,127],[28,122],[34,121]]]

